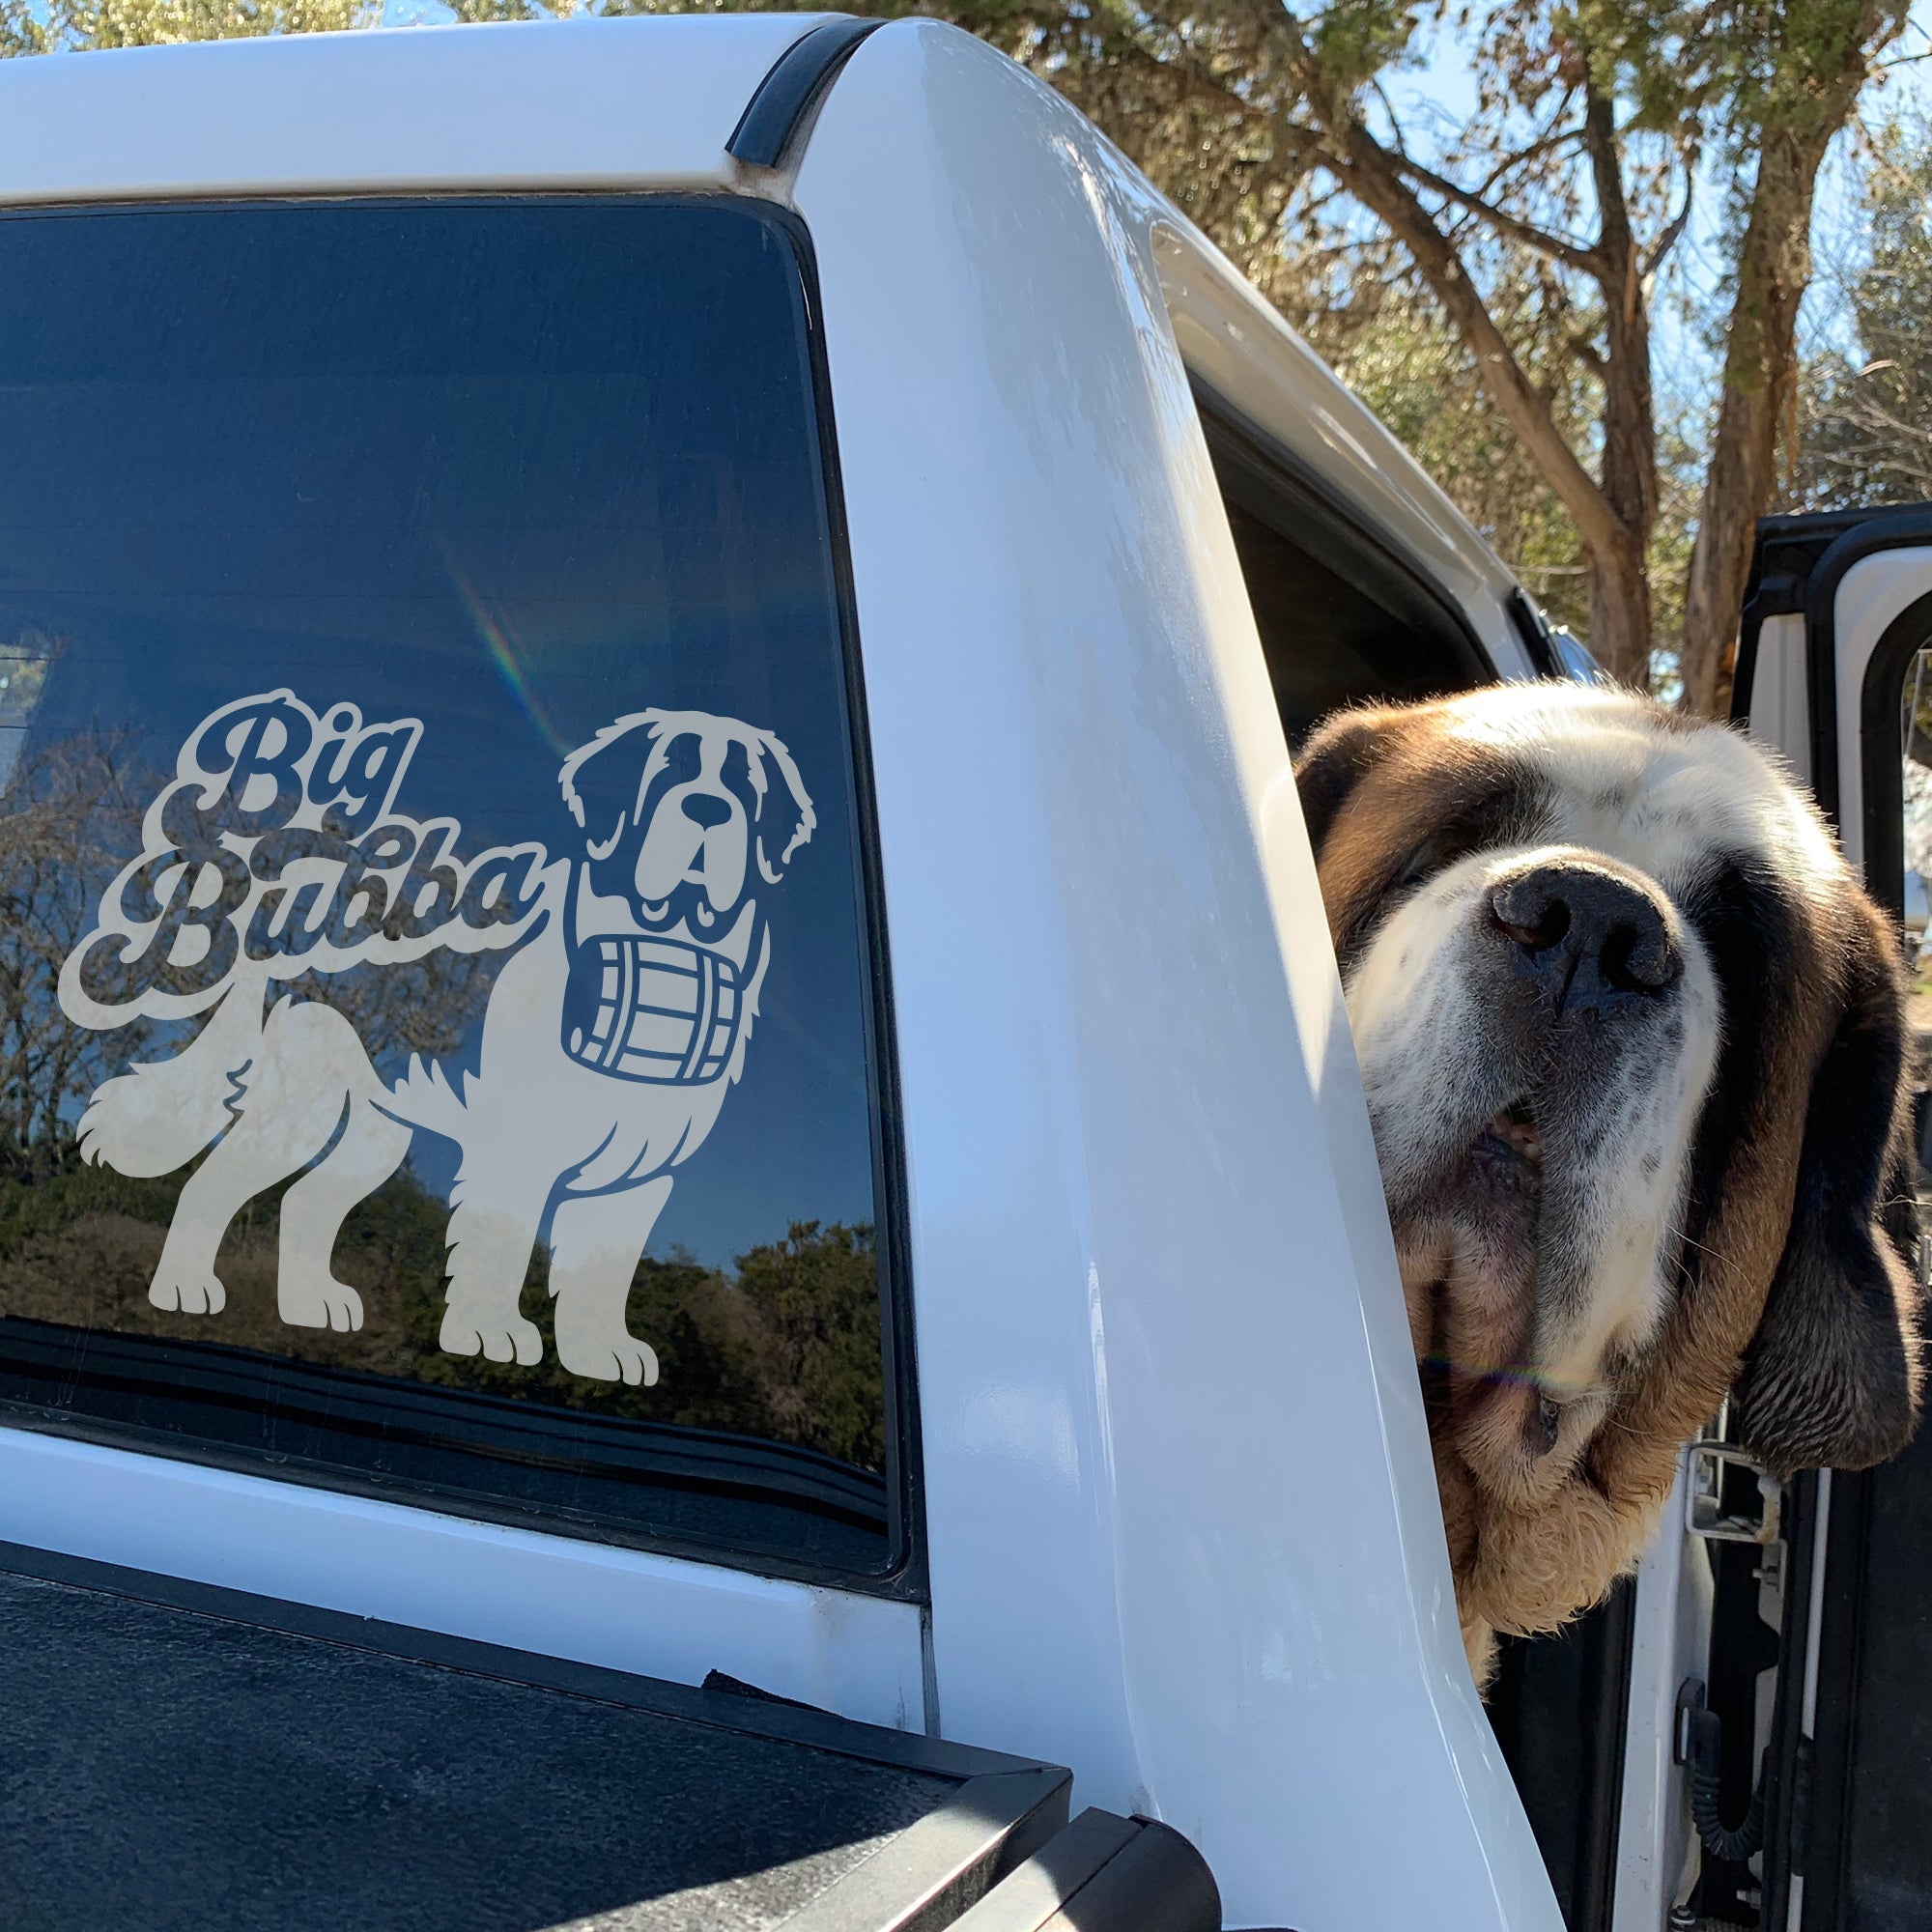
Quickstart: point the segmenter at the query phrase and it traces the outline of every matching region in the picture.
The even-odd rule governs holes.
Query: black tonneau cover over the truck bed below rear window
[[[1057,1766],[724,1685],[0,1544],[0,1924],[1219,1926]]]

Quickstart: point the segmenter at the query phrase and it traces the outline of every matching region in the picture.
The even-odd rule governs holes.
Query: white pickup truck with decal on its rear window
[[[0,1918],[1926,1922],[1913,1463],[1476,1698],[1289,748],[1575,667],[1036,79],[8,62],[0,448]],[[1739,676],[1893,900],[1928,593]]]

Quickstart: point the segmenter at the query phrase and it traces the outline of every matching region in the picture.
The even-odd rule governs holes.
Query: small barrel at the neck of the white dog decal
[[[680,939],[585,939],[564,987],[564,1051],[618,1080],[697,1086],[744,1024],[738,968]]]

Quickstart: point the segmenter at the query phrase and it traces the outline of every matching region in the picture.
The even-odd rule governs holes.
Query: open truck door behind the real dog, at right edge
[[[1932,506],[1760,524],[1733,715],[1810,782],[1899,922],[1926,1202]],[[1694,1774],[1702,1735],[1718,1810],[1712,1820],[1706,1803],[1694,1820],[1702,1878],[1669,1922],[1932,1922],[1915,1776],[1932,1756],[1932,1439],[1920,1432],[1882,1468],[1808,1470],[1785,1486],[1706,1443],[1690,1451],[1687,1488],[1679,1520],[1692,1540],[1702,1528],[1710,1569],[1702,1696],[1718,1725],[1683,1692],[1671,1756]],[[1694,1611],[1681,1623],[1694,1642]],[[1679,1663],[1694,1683],[1694,1660]]]

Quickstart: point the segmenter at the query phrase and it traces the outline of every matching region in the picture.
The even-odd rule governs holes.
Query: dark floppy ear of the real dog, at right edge
[[[1768,1468],[1868,1468],[1918,1416],[1918,1206],[1899,968],[1853,902],[1849,991],[1812,1080],[1783,1260],[1745,1350],[1739,1422]]]

